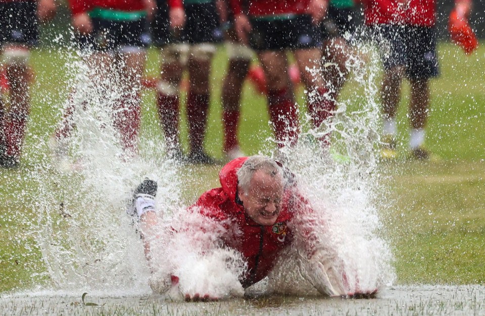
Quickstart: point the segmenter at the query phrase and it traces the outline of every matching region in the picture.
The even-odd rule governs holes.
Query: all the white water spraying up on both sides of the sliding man
[[[379,117],[376,60],[369,59],[364,67],[360,58],[353,57],[347,64],[365,90],[358,110],[350,110],[351,101],[338,101],[339,110],[331,123],[307,128],[296,147],[283,149],[289,157],[287,167],[296,174],[300,190],[321,223],[315,228],[320,232],[318,241],[338,258],[338,269],[344,270],[352,291],[381,289],[394,279],[392,254],[382,237],[373,200],[379,191],[373,154]],[[175,274],[180,290],[188,294],[202,288],[214,297],[243,295],[238,277],[246,268],[244,261],[240,254],[215,242],[226,233],[223,223],[203,218],[198,212],[187,214],[180,207],[181,170],[166,159],[163,146],[141,139],[139,155],[124,154],[120,135],[113,127],[120,78],[92,80],[92,69],[78,58],[72,58],[68,67],[72,74],[68,83],[74,91],[69,102],[75,104],[76,129],[64,143],[67,149],[63,154],[68,164],[79,163],[81,168],[62,171],[45,159],[32,177],[35,192],[27,192],[36,197],[35,218],[22,219],[30,223],[29,236],[35,238],[41,252],[48,287],[69,292],[79,289],[113,294],[116,289],[121,294],[148,294],[150,283],[156,291],[165,292],[171,287],[170,274]],[[333,134],[332,148],[347,155],[348,162],[333,161],[328,150],[322,151],[315,142],[328,132]],[[151,267],[144,258],[136,224],[131,227],[124,212],[132,189],[144,177],[158,182],[156,205],[164,211],[159,214],[162,237],[154,242],[155,263]],[[187,230],[190,223],[203,225],[211,233],[199,235]],[[173,234],[174,230],[178,233]],[[301,276],[298,260],[288,260],[296,256],[293,250],[287,249],[270,280],[262,282],[264,290],[314,293]]]

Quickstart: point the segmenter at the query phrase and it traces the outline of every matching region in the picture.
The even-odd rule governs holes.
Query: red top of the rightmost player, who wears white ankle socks
[[[409,0],[406,5],[399,5],[399,1],[396,0],[364,2],[367,25],[406,24],[430,27],[436,22],[436,0]]]

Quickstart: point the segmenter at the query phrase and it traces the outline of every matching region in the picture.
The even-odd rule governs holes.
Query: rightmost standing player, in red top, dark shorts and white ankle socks
[[[396,159],[396,113],[401,100],[401,83],[406,76],[411,86],[409,104],[409,149],[411,157],[427,160],[424,147],[429,112],[429,81],[437,77],[438,55],[435,0],[365,0],[365,24],[380,50],[384,66],[382,80],[382,159]],[[455,0],[455,10],[468,16],[471,0]]]

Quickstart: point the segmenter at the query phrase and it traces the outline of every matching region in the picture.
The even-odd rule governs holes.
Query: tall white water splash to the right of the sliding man
[[[376,203],[377,193],[383,190],[379,187],[375,156],[379,143],[375,85],[378,58],[365,45],[359,45],[358,51],[367,56],[365,65],[361,56],[354,55],[346,66],[364,89],[360,106],[353,110],[355,100],[335,100],[338,110],[331,121],[317,129],[307,127],[308,132],[301,134],[297,146],[285,147],[279,153],[286,158],[286,166],[297,176],[300,190],[314,209],[316,243],[325,254],[321,261],[331,258],[325,267],[345,275],[350,293],[382,290],[395,279],[393,254],[384,239]],[[321,69],[314,72],[318,75]],[[316,139],[328,133],[332,134],[332,145],[321,148]],[[303,277],[304,262],[297,248],[288,249],[279,260],[269,279],[270,291],[317,294]]]

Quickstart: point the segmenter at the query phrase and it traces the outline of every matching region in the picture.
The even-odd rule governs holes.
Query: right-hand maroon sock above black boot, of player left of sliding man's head
[[[209,94],[196,94],[189,92],[187,96],[186,108],[190,151],[202,151],[207,126],[207,114],[209,110]]]

